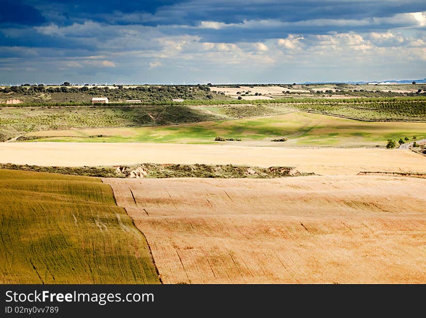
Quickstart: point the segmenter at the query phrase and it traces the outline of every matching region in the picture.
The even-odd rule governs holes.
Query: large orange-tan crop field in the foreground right
[[[164,283],[426,282],[424,179],[104,182]]]

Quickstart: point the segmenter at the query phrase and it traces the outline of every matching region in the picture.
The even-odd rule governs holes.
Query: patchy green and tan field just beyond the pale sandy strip
[[[41,142],[220,143],[213,141],[214,137],[224,136],[241,138],[242,141],[231,141],[236,145],[249,142],[259,146],[356,147],[384,146],[389,138],[426,138],[426,127],[421,122],[365,122],[293,111],[283,115],[179,126],[95,128],[47,131],[33,135],[51,136],[37,139]],[[104,136],[97,137],[100,135]],[[271,142],[271,139],[278,137],[288,137],[289,140]]]

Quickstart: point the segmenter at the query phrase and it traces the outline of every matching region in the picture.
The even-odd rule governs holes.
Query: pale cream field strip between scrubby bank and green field
[[[293,166],[317,174],[426,170],[412,151],[375,148],[292,148],[143,143],[0,143],[0,163],[40,166],[111,166],[136,163]]]

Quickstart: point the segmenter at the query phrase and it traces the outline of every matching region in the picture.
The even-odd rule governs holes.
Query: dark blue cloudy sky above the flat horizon
[[[426,77],[425,0],[0,0],[0,85]]]

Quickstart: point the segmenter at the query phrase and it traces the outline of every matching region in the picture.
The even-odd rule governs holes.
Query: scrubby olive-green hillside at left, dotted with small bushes
[[[170,125],[218,118],[186,106],[14,107],[0,110],[0,133],[12,137],[38,130]]]

